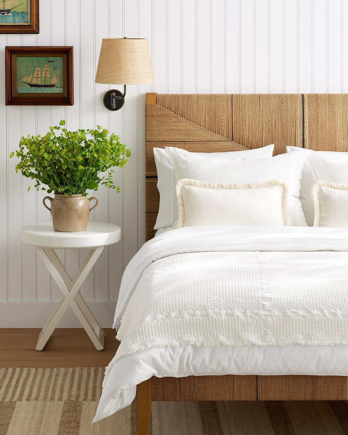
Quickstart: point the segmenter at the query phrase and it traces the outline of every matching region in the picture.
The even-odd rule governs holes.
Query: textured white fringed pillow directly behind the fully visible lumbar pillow
[[[176,148],[166,148],[174,164],[177,181],[188,178],[209,183],[261,183],[282,180],[288,186],[290,225],[307,226],[298,199],[305,155],[301,152],[280,154],[266,159],[220,160],[189,155],[183,160]]]

